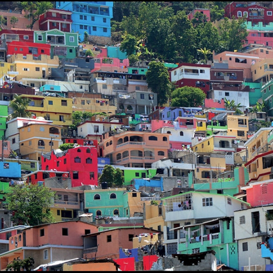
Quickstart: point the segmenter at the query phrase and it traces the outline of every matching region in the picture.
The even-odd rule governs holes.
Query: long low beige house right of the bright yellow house
[[[86,97],[73,97],[73,112],[102,112],[105,114],[115,114],[117,107],[109,105],[109,99],[103,98],[86,98]]]

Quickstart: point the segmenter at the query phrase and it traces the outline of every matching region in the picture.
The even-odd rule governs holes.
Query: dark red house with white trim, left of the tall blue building
[[[71,11],[51,8],[39,17],[40,30],[59,29],[71,32]]]

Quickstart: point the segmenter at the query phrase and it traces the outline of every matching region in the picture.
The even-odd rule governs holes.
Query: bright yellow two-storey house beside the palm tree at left
[[[43,117],[54,125],[63,127],[62,135],[68,133],[68,127],[72,125],[72,99],[63,97],[21,95],[31,99],[27,110],[32,116]]]

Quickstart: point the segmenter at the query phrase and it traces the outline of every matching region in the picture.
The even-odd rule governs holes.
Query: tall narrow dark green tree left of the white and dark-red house
[[[148,88],[157,94],[157,104],[162,106],[167,103],[171,93],[171,82],[168,69],[163,63],[151,61],[146,72]]]

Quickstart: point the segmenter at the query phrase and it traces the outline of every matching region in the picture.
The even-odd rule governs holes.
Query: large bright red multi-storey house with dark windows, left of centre
[[[98,185],[98,156],[95,146],[77,146],[66,151],[53,150],[43,157],[42,170],[63,172],[61,177],[69,177],[72,188]]]

